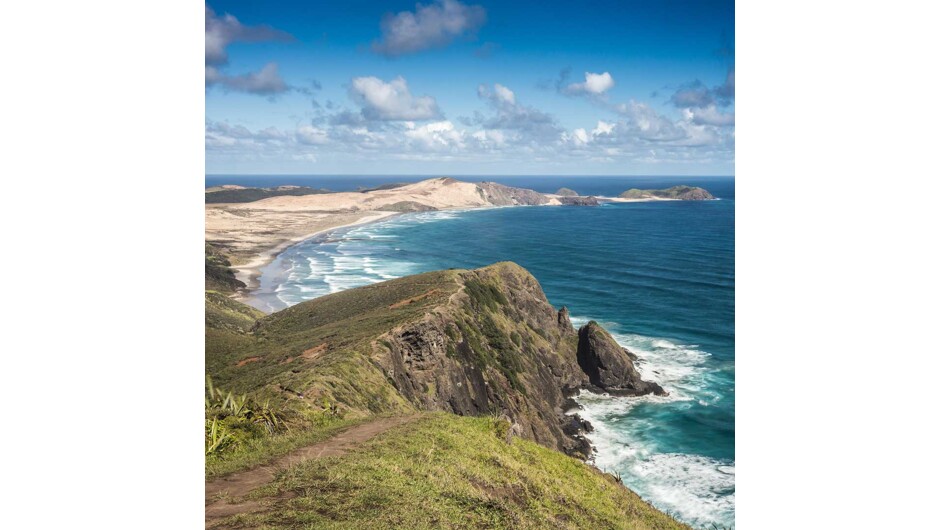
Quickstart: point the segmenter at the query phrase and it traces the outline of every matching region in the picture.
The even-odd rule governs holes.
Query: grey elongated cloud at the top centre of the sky
[[[418,4],[415,11],[387,14],[382,20],[382,37],[372,43],[372,50],[387,56],[439,48],[454,39],[472,35],[486,22],[486,10],[478,5],[464,5],[457,0],[437,0]]]

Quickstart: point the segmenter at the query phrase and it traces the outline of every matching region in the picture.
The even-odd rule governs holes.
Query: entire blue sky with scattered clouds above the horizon
[[[209,3],[206,172],[732,175],[734,3]]]

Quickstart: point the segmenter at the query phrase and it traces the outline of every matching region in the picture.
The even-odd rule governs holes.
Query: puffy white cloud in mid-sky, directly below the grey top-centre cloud
[[[414,97],[401,76],[389,82],[377,77],[353,78],[349,96],[362,108],[367,120],[412,121],[441,117],[437,101],[431,96]]]

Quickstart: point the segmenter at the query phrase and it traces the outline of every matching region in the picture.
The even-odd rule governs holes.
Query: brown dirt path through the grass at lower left
[[[206,528],[218,528],[221,520],[231,515],[263,510],[264,506],[261,503],[246,500],[244,497],[252,490],[274,480],[274,474],[278,470],[311,458],[341,456],[373,436],[408,423],[416,417],[379,418],[369,423],[356,425],[332,438],[301,447],[267,464],[206,482]]]

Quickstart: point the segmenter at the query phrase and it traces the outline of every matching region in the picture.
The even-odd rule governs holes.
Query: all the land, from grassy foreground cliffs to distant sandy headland
[[[206,197],[207,527],[686,527],[585,463],[592,427],[572,399],[665,391],[602,326],[575,329],[522,267],[417,274],[270,315],[238,297],[291,244],[398,213],[707,191],[582,197],[439,178]]]

